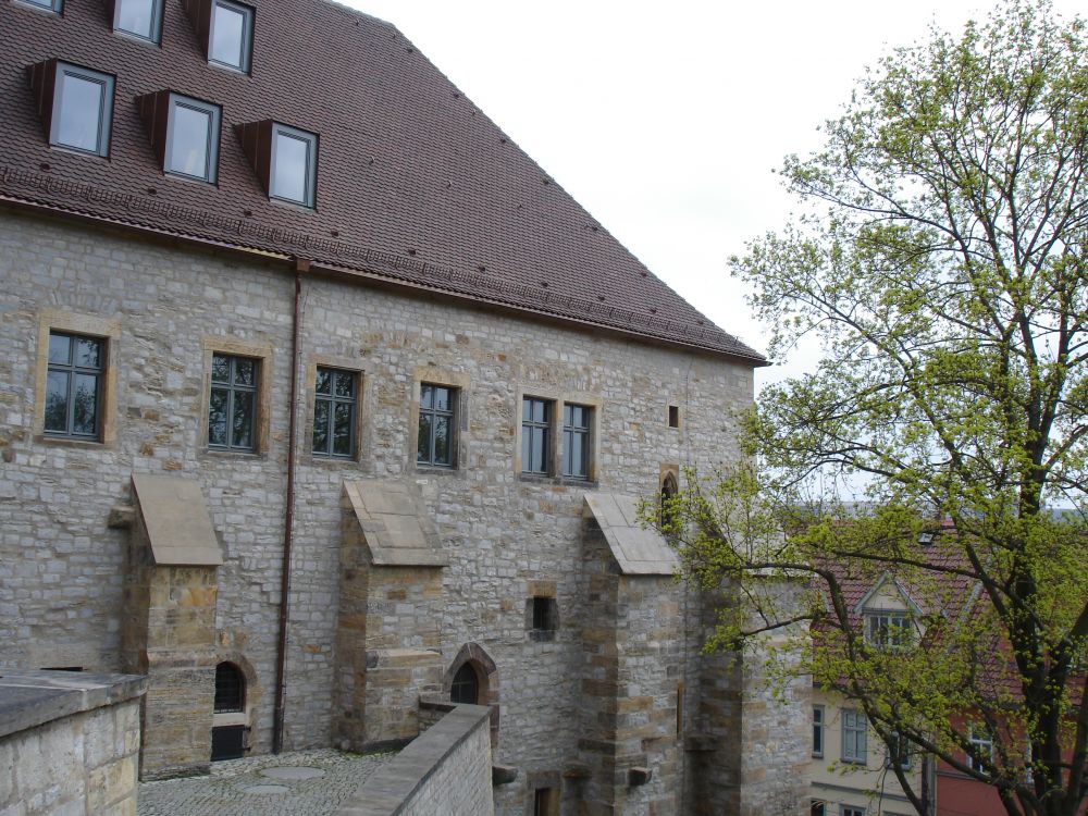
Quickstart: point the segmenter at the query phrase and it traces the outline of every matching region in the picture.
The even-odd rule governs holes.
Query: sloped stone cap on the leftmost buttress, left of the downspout
[[[157,565],[218,567],[223,562],[196,480],[133,473],[133,490]]]

